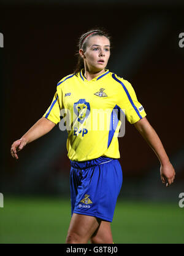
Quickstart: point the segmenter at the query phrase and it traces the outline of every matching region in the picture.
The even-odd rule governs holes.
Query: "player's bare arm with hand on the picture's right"
[[[169,161],[166,151],[164,150],[164,146],[156,134],[156,131],[145,117],[134,123],[134,126],[158,157],[161,164],[160,174],[162,182],[166,183],[166,186],[171,185],[171,183],[174,182],[175,170]]]

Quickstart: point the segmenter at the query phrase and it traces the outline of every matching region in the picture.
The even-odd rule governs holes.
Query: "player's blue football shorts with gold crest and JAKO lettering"
[[[112,222],[123,174],[118,159],[101,156],[71,161],[72,214],[90,215]]]

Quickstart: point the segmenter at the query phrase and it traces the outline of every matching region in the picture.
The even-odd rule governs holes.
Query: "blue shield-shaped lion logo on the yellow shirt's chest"
[[[78,116],[77,121],[82,124],[90,114],[90,103],[86,102],[85,98],[81,98],[74,103],[74,113]]]

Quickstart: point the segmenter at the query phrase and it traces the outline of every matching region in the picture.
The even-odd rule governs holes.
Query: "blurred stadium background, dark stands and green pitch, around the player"
[[[159,162],[134,126],[119,139],[123,186],[112,222],[117,243],[183,243],[183,1],[1,0],[1,243],[64,243],[71,218],[66,132],[56,126],[26,146],[10,146],[47,110],[71,74],[77,39],[94,26],[112,36],[108,68],[131,82],[176,170],[166,188]]]

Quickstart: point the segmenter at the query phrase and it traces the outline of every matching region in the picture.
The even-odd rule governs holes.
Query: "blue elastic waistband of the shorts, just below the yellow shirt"
[[[77,169],[85,169],[91,166],[98,166],[99,164],[105,164],[105,162],[112,161],[113,158],[107,158],[107,156],[100,156],[99,158],[92,159],[89,161],[71,161],[71,166]]]

